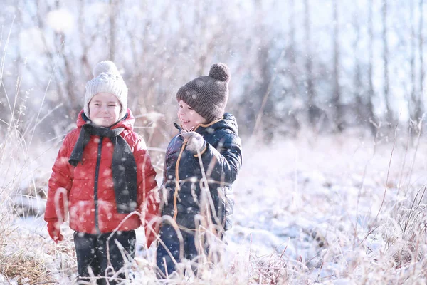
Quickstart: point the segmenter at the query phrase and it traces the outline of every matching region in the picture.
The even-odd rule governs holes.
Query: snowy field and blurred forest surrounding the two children
[[[162,183],[176,91],[231,71],[243,166],[220,262],[124,284],[426,284],[423,0],[25,1],[0,11],[0,284],[75,284],[48,179],[98,61],[115,61]],[[189,266],[189,264],[183,264]]]

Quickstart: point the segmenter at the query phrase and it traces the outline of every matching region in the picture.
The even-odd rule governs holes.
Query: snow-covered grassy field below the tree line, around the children
[[[426,154],[425,140],[408,143],[399,133],[396,140],[376,144],[352,135],[300,135],[270,146],[243,140],[226,258],[201,280],[191,281],[425,284]],[[48,175],[55,155],[53,147],[27,168]],[[37,161],[39,167],[33,166]],[[5,173],[4,165],[1,170]],[[43,214],[25,219],[7,214],[6,205],[14,198],[3,189],[0,265],[19,266],[3,268],[9,275],[1,275],[0,284],[73,284],[77,269],[71,230],[65,226],[65,241],[54,244]],[[38,204],[43,212],[43,199]],[[142,244],[140,231],[138,239]],[[153,253],[139,248],[134,284],[155,283]]]

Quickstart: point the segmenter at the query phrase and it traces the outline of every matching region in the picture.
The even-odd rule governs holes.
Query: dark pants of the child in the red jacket
[[[77,266],[79,281],[89,281],[88,268],[93,272],[93,275],[99,277],[97,284],[107,284],[105,280],[105,271],[107,267],[112,267],[107,270],[107,276],[112,276],[117,271],[125,266],[125,262],[135,257],[135,231],[115,232],[110,237],[111,233],[106,234],[85,234],[82,232],[74,232],[75,253],[77,256]],[[110,237],[110,239],[108,239]],[[116,241],[119,242],[123,249],[117,247]],[[108,252],[107,254],[107,244]],[[123,259],[125,256],[126,260]],[[104,277],[104,278],[102,278]],[[125,272],[120,273],[117,278],[125,279]],[[93,279],[92,279],[93,280]],[[118,281],[110,281],[110,284],[117,284]]]

